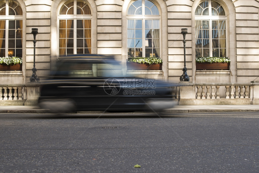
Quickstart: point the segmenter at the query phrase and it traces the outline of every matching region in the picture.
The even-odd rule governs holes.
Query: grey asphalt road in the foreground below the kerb
[[[259,112],[0,114],[0,172],[255,173],[258,124]]]

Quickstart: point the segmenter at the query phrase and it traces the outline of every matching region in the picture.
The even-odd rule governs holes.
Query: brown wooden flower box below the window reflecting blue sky
[[[127,70],[162,70],[162,63],[159,64],[140,64],[137,62],[127,62]]]

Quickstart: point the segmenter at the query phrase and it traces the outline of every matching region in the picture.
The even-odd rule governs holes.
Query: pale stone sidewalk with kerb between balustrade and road
[[[175,105],[172,109],[166,109],[166,113],[187,113],[187,112],[253,112],[259,111],[259,105]],[[42,114],[47,110],[38,106],[0,106],[0,113],[24,113]],[[100,114],[103,111],[80,111],[80,114]],[[109,112],[105,112],[108,114]],[[130,112],[127,112],[130,113]],[[140,112],[131,112],[140,113]]]

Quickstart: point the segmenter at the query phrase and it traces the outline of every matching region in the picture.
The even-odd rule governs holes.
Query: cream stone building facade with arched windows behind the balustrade
[[[187,28],[186,67],[192,83],[259,80],[258,0],[0,0],[0,5],[0,20],[5,22],[5,26],[0,24],[3,56],[10,51],[18,55],[22,49],[23,58],[21,71],[0,71],[2,84],[30,82],[32,28],[39,32],[36,74],[41,79],[59,56],[92,53],[116,55],[124,74],[178,83],[184,65],[181,29]],[[1,30],[5,32],[2,36]],[[22,37],[17,36],[18,31]],[[197,52],[229,57],[230,69],[196,70]],[[144,55],[162,58],[162,70],[127,70],[129,56]]]

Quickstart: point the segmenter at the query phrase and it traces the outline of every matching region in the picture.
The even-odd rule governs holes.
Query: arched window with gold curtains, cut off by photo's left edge
[[[0,1],[0,57],[22,57],[23,11],[14,0]]]

